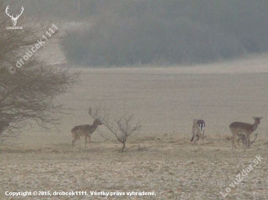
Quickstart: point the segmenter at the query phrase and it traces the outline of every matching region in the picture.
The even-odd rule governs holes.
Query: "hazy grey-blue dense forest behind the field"
[[[24,0],[25,16],[90,20],[61,41],[85,66],[207,63],[268,50],[267,0]],[[26,9],[25,9],[26,10]],[[86,23],[86,22],[85,22]]]

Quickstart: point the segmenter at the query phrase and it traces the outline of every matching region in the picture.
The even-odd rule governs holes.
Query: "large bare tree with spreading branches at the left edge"
[[[20,16],[17,25],[23,29],[7,29],[12,21],[5,14],[4,2],[0,0],[0,121],[11,119],[12,126],[4,127],[0,145],[32,121],[43,128],[57,125],[59,114],[68,108],[56,97],[70,91],[79,79],[79,73],[48,66],[36,56],[36,51],[56,42],[59,28]]]

